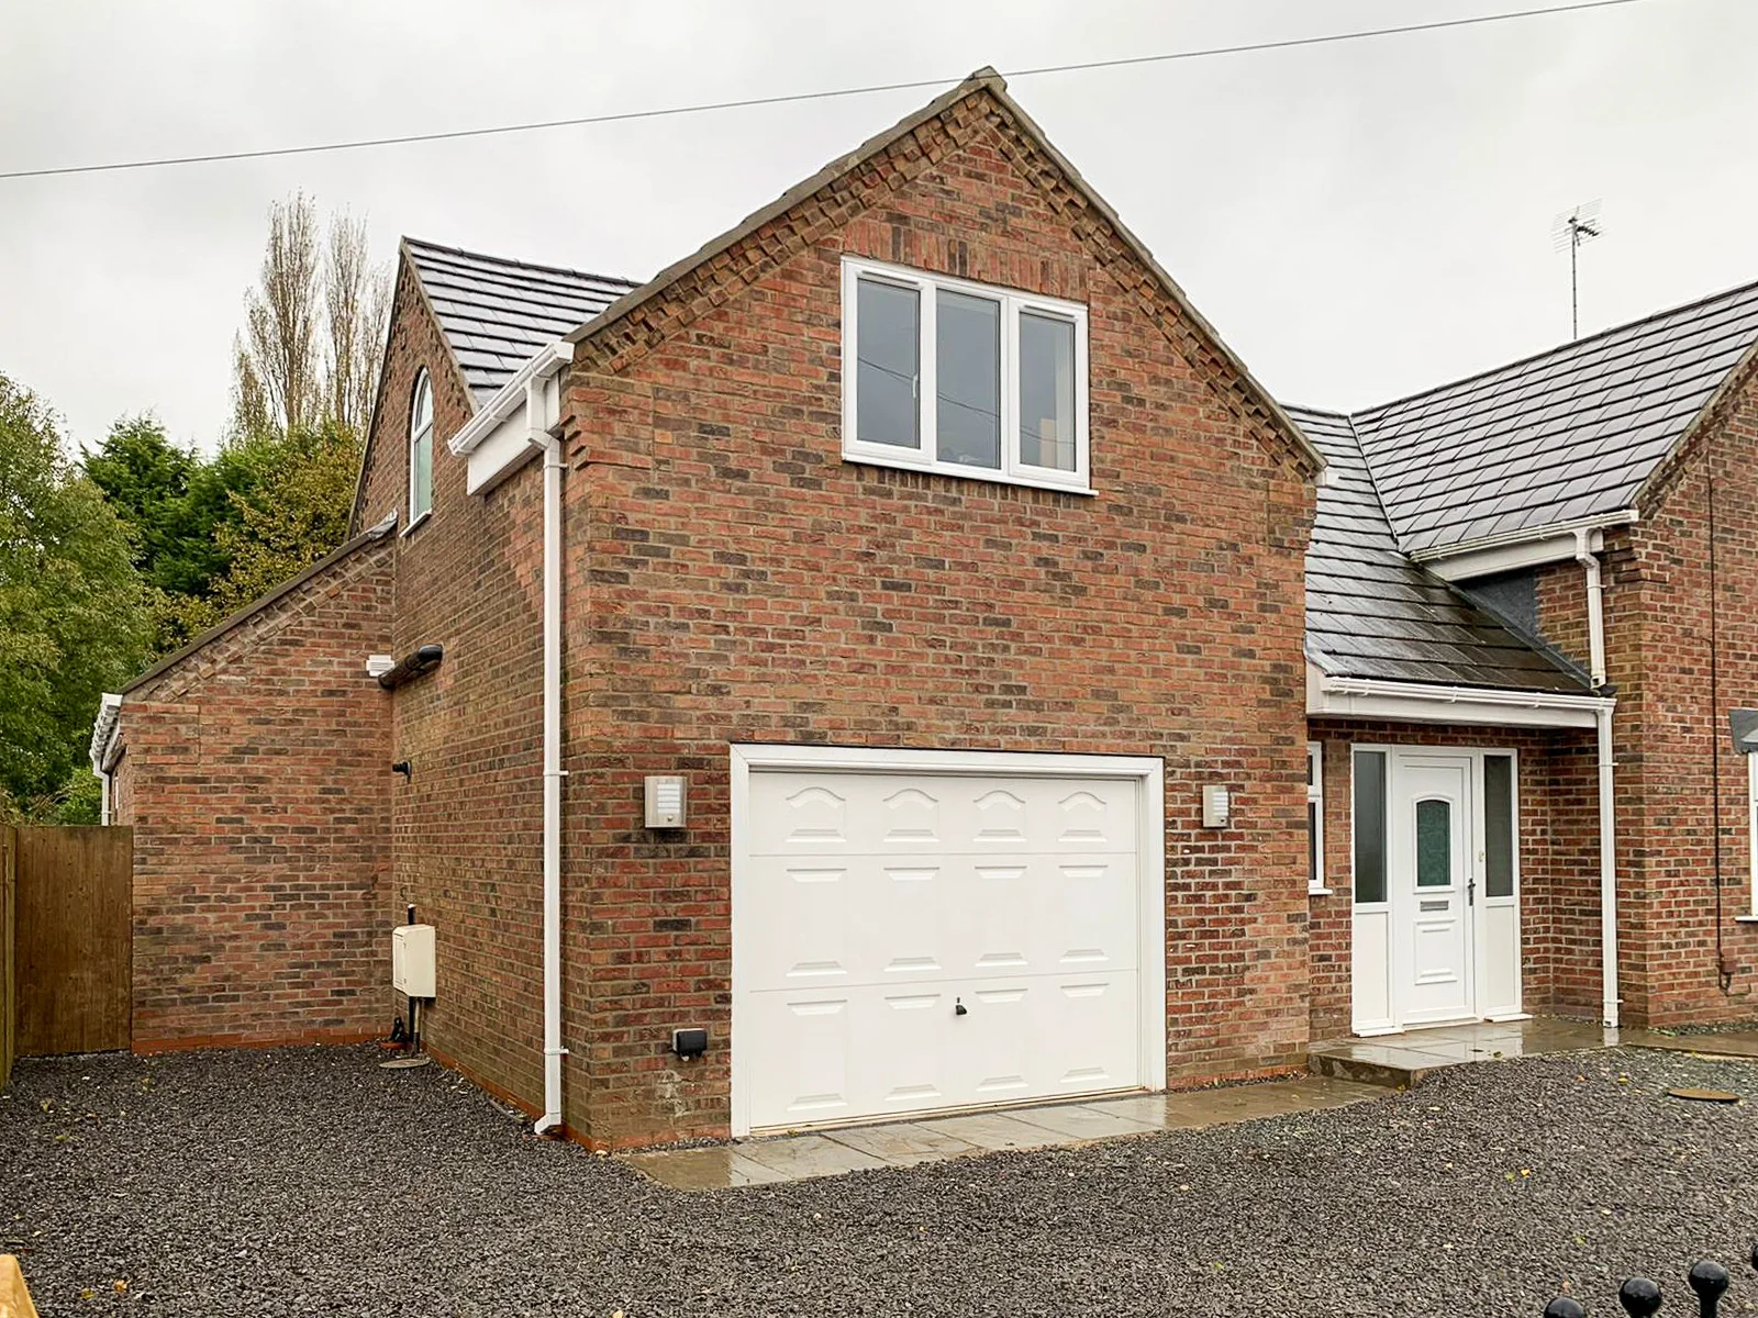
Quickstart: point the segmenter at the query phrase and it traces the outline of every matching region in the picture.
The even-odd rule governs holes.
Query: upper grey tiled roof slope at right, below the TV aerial
[[[1350,415],[1406,554],[1635,504],[1758,343],[1758,283]]]

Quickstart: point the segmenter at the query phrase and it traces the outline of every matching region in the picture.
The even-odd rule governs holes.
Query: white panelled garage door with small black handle
[[[1153,1083],[1143,787],[754,768],[735,822],[740,1133]]]

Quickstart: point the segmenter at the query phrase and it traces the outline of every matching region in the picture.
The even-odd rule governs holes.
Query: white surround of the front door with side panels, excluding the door
[[[1354,845],[1355,836],[1355,752],[1384,752],[1385,754],[1385,826],[1387,826],[1387,872],[1385,872],[1385,902],[1357,903],[1354,902],[1354,879],[1350,880],[1350,1028],[1357,1035],[1385,1035],[1398,1033],[1406,1028],[1422,1028],[1427,1025],[1456,1025],[1459,1021],[1473,1019],[1524,1019],[1524,984],[1521,981],[1521,961],[1524,952],[1524,933],[1521,921],[1521,752],[1514,747],[1498,745],[1445,745],[1445,743],[1399,743],[1399,742],[1352,742],[1350,747],[1350,844]],[[1394,854],[1392,854],[1392,836],[1396,833],[1392,822],[1392,810],[1398,803],[1399,794],[1399,777],[1403,773],[1405,756],[1456,756],[1471,761],[1471,784],[1470,784],[1470,805],[1471,819],[1468,821],[1471,845],[1466,852],[1466,882],[1477,884],[1475,898],[1470,905],[1470,974],[1471,974],[1471,1010],[1470,1014],[1459,1017],[1459,1021],[1420,1021],[1410,1023],[1406,1019],[1408,1012],[1408,993],[1406,984],[1401,981],[1399,972],[1405,970],[1405,958],[1394,954],[1398,942],[1405,938],[1408,921],[1413,917],[1413,893],[1399,891],[1399,884],[1394,877]],[[1505,898],[1491,898],[1487,894],[1486,882],[1486,784],[1484,784],[1484,757],[1486,756],[1507,756],[1512,761],[1512,821],[1514,829],[1514,891]],[[1354,863],[1354,861],[1352,861]],[[1494,905],[1491,905],[1494,903]],[[1486,912],[1493,909],[1510,909],[1514,916],[1514,965],[1512,984],[1514,984],[1514,1002],[1512,1003],[1486,1003],[1484,986],[1489,981],[1484,967],[1484,949],[1487,938],[1484,937]],[[1385,938],[1385,947],[1378,949],[1373,944],[1377,938]],[[1366,942],[1364,942],[1366,940]],[[1362,986],[1362,975],[1369,975],[1375,981],[1384,975],[1384,984],[1371,982]],[[1362,998],[1375,996],[1387,1003],[1387,1014],[1364,1017]]]

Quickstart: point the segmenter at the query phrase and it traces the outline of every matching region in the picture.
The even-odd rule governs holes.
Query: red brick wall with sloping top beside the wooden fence
[[[389,541],[127,692],[113,819],[134,826],[134,1042],[389,1026]]]

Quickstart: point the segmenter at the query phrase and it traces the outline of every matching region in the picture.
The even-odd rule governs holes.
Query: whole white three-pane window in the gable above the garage
[[[842,455],[1088,490],[1086,308],[842,262]]]

